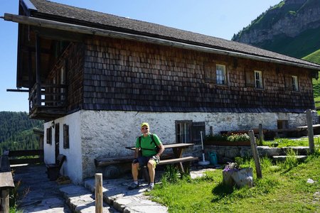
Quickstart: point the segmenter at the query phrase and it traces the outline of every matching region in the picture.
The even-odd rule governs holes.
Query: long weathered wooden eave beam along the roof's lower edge
[[[4,13],[4,20],[5,21],[14,21],[16,23],[22,23],[30,26],[39,26],[41,28],[53,28],[60,31],[69,31],[69,32],[75,32],[75,33],[83,33],[83,34],[89,34],[89,35],[100,35],[100,36],[106,36],[111,38],[122,38],[127,40],[138,40],[141,42],[146,43],[156,43],[159,45],[168,45],[176,48],[183,48],[188,50],[196,50],[200,52],[205,53],[217,53],[221,55],[230,55],[235,56],[239,58],[248,58],[251,60],[258,60],[258,61],[264,61],[264,62],[274,62],[277,64],[282,65],[294,65],[297,67],[304,67],[306,69],[311,70],[320,70],[320,66],[316,65],[307,65],[304,63],[299,62],[291,62],[287,60],[281,60],[276,58],[267,58],[261,55],[251,55],[249,53],[239,53],[235,52],[233,50],[220,50],[215,47],[208,47],[203,46],[203,44],[191,44],[191,43],[185,43],[183,40],[176,41],[176,40],[169,40],[169,38],[154,38],[151,35],[139,35],[132,33],[124,33],[119,31],[111,31],[106,30],[102,28],[92,28],[87,26],[80,26],[77,24],[72,23],[63,23],[60,21],[50,21],[43,18],[34,18],[29,16],[18,16],[10,13]],[[143,32],[142,32],[143,33]]]

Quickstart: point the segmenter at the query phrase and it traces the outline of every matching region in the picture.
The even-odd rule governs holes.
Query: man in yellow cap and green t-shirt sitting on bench
[[[134,160],[132,161],[132,176],[134,182],[129,186],[129,190],[139,188],[138,173],[139,168],[147,166],[149,169],[150,184],[146,191],[154,189],[154,175],[156,164],[160,162],[160,156],[164,152],[164,145],[156,134],[151,134],[148,123],[141,124],[142,135],[137,138]],[[140,153],[140,154],[139,154]]]

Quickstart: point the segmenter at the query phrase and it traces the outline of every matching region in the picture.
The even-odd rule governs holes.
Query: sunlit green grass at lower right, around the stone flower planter
[[[243,164],[255,168],[252,159]],[[263,178],[254,175],[252,188],[223,185],[222,170],[217,169],[203,178],[156,185],[150,195],[169,212],[320,212],[319,150],[304,163],[289,160],[273,165],[262,158],[261,164]],[[316,182],[306,182],[309,178]]]

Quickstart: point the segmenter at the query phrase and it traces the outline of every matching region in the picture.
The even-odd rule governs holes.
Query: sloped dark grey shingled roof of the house
[[[29,1],[29,0],[24,0]],[[46,0],[30,0],[36,8],[30,9],[31,16],[37,18],[46,18],[54,21],[65,23],[79,24],[82,26],[91,26],[112,31],[132,33],[135,35],[147,35],[153,38],[162,38],[166,40],[178,41],[192,45],[199,45],[208,48],[216,48],[219,50],[232,51],[235,53],[243,53],[245,55],[260,56],[262,58],[270,58],[281,61],[297,63],[297,65],[309,65],[314,70],[320,70],[320,65],[292,58],[287,55],[274,53],[252,45],[238,43],[213,36],[202,35],[190,31],[183,31],[177,28],[162,26],[156,23],[146,21],[138,21],[131,18],[114,16],[107,13],[100,13],[87,9],[80,9],[74,6],[58,4]]]

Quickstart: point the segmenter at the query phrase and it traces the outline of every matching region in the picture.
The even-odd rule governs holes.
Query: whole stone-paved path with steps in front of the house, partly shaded
[[[60,185],[49,181],[45,165],[11,167],[14,180],[21,180],[18,187],[18,210],[23,212],[95,212],[95,179],[85,180],[84,185]],[[203,175],[204,170],[191,172],[191,178]],[[157,173],[159,182],[161,173]],[[103,180],[103,212],[168,212],[167,207],[152,202],[144,195],[147,185],[137,190],[127,190],[132,183],[130,175]]]

